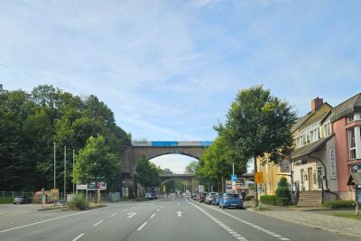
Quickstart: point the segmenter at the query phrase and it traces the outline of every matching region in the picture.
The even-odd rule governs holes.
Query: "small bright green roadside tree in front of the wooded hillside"
[[[89,137],[86,146],[79,150],[74,166],[74,180],[77,183],[110,181],[116,177],[120,160],[102,135]],[[97,188],[96,188],[97,189]]]

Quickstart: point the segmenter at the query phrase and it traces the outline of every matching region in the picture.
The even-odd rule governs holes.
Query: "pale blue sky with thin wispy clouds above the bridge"
[[[360,13],[347,0],[3,0],[0,84],[96,95],[135,139],[212,141],[239,89],[262,84],[298,116],[359,93]]]

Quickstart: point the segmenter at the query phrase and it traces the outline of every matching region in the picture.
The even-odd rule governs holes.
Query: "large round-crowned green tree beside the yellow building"
[[[286,101],[271,96],[263,86],[241,89],[227,112],[225,126],[218,125],[218,134],[225,136],[227,144],[241,160],[278,163],[292,151],[291,127],[296,114]],[[247,162],[247,161],[245,161]],[[255,185],[255,205],[258,206]]]

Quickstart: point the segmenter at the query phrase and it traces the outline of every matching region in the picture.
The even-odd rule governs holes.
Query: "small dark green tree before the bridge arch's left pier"
[[[149,162],[145,155],[139,159],[135,167],[134,180],[145,188],[157,187],[161,184],[156,165]]]

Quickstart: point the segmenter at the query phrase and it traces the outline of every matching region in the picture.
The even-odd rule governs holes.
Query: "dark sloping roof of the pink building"
[[[348,98],[337,107],[334,107],[332,110],[331,122],[338,121],[339,119],[356,111],[361,111],[361,93]]]

